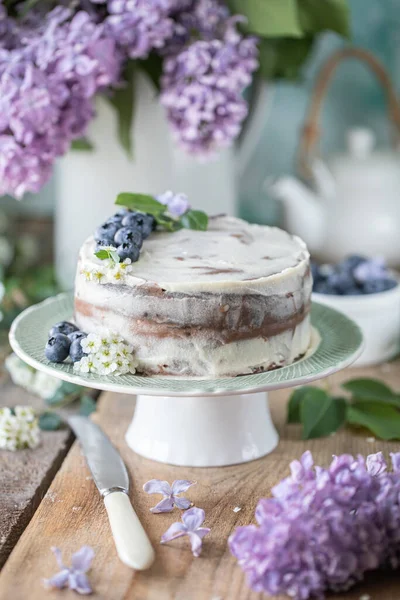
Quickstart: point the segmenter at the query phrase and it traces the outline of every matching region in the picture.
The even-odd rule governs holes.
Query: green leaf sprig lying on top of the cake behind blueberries
[[[157,227],[166,231],[177,231],[182,228],[206,231],[208,227],[208,216],[205,212],[189,209],[182,216],[174,217],[169,214],[168,206],[148,194],[122,192],[118,194],[115,204],[152,215]]]

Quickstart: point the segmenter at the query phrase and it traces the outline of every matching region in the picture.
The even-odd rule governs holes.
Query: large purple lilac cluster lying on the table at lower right
[[[296,600],[342,591],[380,566],[400,564],[400,453],[387,471],[382,453],[333,458],[310,452],[261,499],[257,525],[239,527],[229,546],[251,587]]]

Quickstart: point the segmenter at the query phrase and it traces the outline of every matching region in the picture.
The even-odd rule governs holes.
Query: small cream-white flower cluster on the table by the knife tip
[[[36,448],[40,442],[38,420],[30,406],[0,408],[0,449]]]

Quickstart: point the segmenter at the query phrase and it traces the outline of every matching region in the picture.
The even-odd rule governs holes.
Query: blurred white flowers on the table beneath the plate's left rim
[[[5,367],[15,385],[20,385],[31,394],[44,400],[54,396],[62,381],[41,371],[36,371],[16,354],[10,354],[4,361]]]

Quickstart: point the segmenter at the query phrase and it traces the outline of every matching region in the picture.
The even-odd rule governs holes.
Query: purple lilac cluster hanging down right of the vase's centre
[[[208,156],[239,135],[248,107],[243,98],[258,67],[257,40],[237,31],[216,0],[199,0],[177,18],[165,48],[161,103],[177,142],[189,153]],[[201,39],[190,42],[190,32]]]

